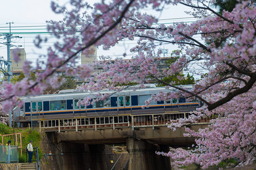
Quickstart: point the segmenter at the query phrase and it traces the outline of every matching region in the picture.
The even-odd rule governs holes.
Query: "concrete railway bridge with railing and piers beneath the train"
[[[73,117],[39,120],[45,131],[63,153],[61,169],[106,169],[104,146],[125,144],[129,152],[129,169],[171,169],[170,159],[155,154],[171,147],[190,146],[194,138],[184,137],[185,127],[172,131],[170,120],[188,117],[189,113]],[[206,128],[210,118],[187,125],[193,130]],[[79,153],[79,154],[74,154]],[[74,167],[76,166],[76,167]]]

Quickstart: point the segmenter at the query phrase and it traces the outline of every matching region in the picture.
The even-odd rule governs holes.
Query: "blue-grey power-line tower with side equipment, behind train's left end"
[[[10,61],[10,48],[16,45],[12,45],[11,44],[11,39],[14,38],[18,38],[21,39],[22,37],[20,36],[13,36],[11,34],[11,24],[13,23],[6,23],[9,24],[9,28],[10,28],[10,33],[2,33],[0,34],[0,36],[3,36],[3,40],[6,40],[6,42],[0,42],[0,44],[6,45],[7,46],[7,61],[5,61],[2,58],[0,58],[0,63],[1,63],[1,68],[0,71],[3,73],[3,75],[6,75],[8,77],[8,82],[11,83],[11,76],[13,75],[13,73],[11,72],[11,61]],[[19,45],[22,46],[22,45]],[[6,66],[7,66],[7,71],[6,71]],[[11,127],[11,112],[9,113],[9,126]]]

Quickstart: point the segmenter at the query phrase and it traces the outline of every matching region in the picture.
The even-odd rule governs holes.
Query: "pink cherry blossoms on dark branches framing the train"
[[[193,23],[158,23],[153,15],[142,14],[141,10],[152,8],[160,11],[169,5],[192,7],[198,20]],[[187,137],[196,137],[195,150],[177,150],[166,153],[177,160],[177,164],[200,164],[203,168],[216,165],[225,159],[236,158],[241,164],[255,160],[255,80],[256,80],[256,8],[254,1],[237,3],[232,12],[222,14],[210,8],[209,1],[194,3],[190,0],[110,0],[90,6],[82,0],[71,0],[68,7],[51,3],[56,14],[64,19],[48,21],[48,32],[56,37],[47,54],[39,56],[36,67],[31,62],[23,63],[27,78],[16,84],[4,83],[0,91],[3,111],[9,112],[15,105],[22,105],[20,96],[39,95],[48,84],[58,87],[63,79],[55,75],[57,70],[76,76],[85,83],[81,91],[122,91],[122,84],[160,82],[176,91],[159,92],[146,101],[171,100],[196,97],[205,105],[190,117],[178,121],[170,120],[172,130],[201,117],[219,115],[210,122],[209,128],[197,132],[186,129]],[[200,36],[201,40],[196,39]],[[90,65],[77,66],[80,53],[90,53],[92,46],[108,50],[122,40],[138,38],[137,45],[130,49],[132,59],[102,56]],[[81,40],[82,39],[82,40]],[[37,36],[34,43],[40,48],[48,39]],[[159,69],[163,44],[177,44],[175,62],[167,69]],[[18,50],[14,60],[19,61]],[[126,56],[126,54],[123,54]],[[44,59],[46,60],[44,60]],[[191,62],[199,61],[208,70],[207,75],[193,88],[186,90],[174,86],[174,82],[163,82],[182,70],[188,70]],[[101,68],[101,69],[99,69]],[[37,70],[44,69],[43,72]],[[98,69],[101,70],[98,72]],[[94,73],[92,73],[94,71]],[[30,80],[36,73],[36,80]],[[195,70],[193,74],[200,74]],[[181,77],[178,77],[181,79]],[[98,94],[98,99],[84,99],[79,104],[89,105],[106,99],[107,94]]]

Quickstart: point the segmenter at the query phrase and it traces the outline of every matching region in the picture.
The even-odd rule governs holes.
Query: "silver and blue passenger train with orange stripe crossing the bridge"
[[[175,88],[152,86],[133,90],[133,87],[121,92],[100,91],[101,94],[110,94],[108,99],[96,101],[87,107],[79,105],[85,97],[97,98],[99,92],[76,92],[75,90],[60,91],[59,94],[38,95],[22,97],[23,107],[14,111],[15,121],[26,124],[29,121],[72,118],[72,117],[100,117],[120,114],[158,114],[166,112],[190,112],[200,107],[200,101],[187,101],[185,98],[171,99],[170,101],[157,101],[151,103],[149,108],[142,108],[151,95],[159,91],[170,92]],[[191,88],[192,86],[184,86]],[[23,125],[21,125],[23,126]]]

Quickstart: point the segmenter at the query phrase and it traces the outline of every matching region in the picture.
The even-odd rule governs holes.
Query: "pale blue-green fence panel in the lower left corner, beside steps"
[[[18,163],[19,147],[14,145],[0,145],[0,163]]]

